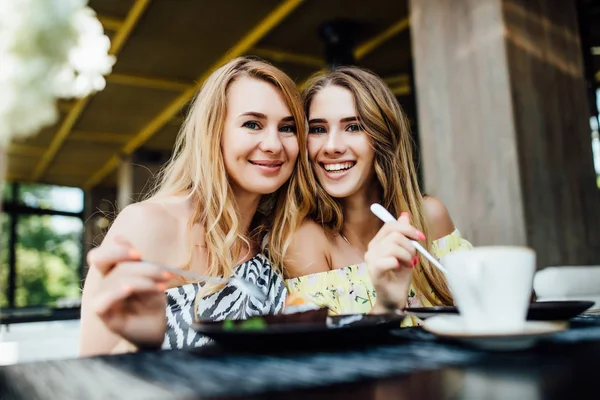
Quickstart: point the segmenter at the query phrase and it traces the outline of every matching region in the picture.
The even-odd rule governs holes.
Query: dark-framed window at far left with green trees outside
[[[83,191],[7,183],[3,199],[0,307],[78,307]]]

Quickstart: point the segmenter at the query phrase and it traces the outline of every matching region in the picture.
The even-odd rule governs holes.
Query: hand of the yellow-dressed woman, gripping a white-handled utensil
[[[365,262],[377,293],[372,313],[406,306],[412,270],[419,260],[410,239],[424,240],[425,235],[410,224],[408,213],[402,213],[397,222],[384,224],[369,243]]]

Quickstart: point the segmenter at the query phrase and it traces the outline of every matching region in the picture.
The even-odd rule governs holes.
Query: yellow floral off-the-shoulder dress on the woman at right
[[[451,234],[432,242],[431,253],[441,259],[452,251],[471,247],[455,229]],[[285,282],[290,293],[300,293],[319,307],[328,307],[333,315],[366,314],[375,304],[375,288],[365,263],[286,279]],[[431,307],[431,304],[411,285],[407,306]],[[418,323],[417,319],[406,318],[402,325],[413,326]]]

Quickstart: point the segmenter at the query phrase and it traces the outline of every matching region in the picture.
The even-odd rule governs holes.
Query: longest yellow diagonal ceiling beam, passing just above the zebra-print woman
[[[121,160],[122,154],[131,154],[148,139],[156,134],[173,117],[180,112],[181,108],[196,94],[198,89],[204,84],[204,81],[212,72],[226,64],[235,57],[246,54],[260,39],[265,37],[274,27],[276,27],[284,18],[293,12],[303,0],[284,0],[279,3],[277,8],[271,11],[261,22],[252,30],[244,35],[231,49],[229,49],[217,62],[206,70],[196,81],[196,83],[173,100],[166,108],[153,118],[145,127],[143,127],[134,137],[132,137],[114,154],[94,175],[92,175],[84,184],[83,189],[90,189],[99,184],[106,176],[114,171]]]

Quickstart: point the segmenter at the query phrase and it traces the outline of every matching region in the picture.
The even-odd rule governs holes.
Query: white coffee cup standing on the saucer
[[[444,257],[446,278],[465,329],[509,333],[523,328],[535,274],[527,247],[483,246]]]

